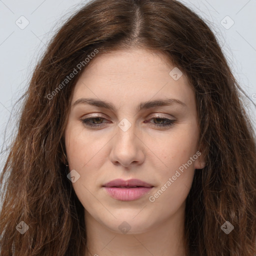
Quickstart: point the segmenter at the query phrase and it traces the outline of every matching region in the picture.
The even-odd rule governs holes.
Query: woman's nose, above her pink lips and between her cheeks
[[[126,131],[117,126],[116,134],[111,142],[109,154],[111,162],[124,167],[140,165],[145,158],[145,145],[140,136],[134,125]]]

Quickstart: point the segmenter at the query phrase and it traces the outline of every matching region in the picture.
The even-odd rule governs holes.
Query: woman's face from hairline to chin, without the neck
[[[90,61],[75,85],[65,129],[85,219],[118,233],[142,233],[182,218],[194,169],[204,166],[188,80],[161,53],[144,49]],[[124,183],[104,186],[114,179]]]

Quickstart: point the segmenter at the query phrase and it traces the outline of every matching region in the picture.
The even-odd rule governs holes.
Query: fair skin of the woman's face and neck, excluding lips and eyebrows
[[[65,128],[69,169],[80,175],[72,186],[84,207],[88,239],[84,256],[185,255],[185,199],[194,169],[202,168],[204,162],[202,155],[196,157],[166,186],[176,170],[198,152],[199,136],[194,93],[184,73],[177,80],[169,75],[173,67],[161,53],[120,50],[95,56],[75,84],[71,104],[94,98],[115,107],[74,104]],[[185,105],[172,102],[136,109],[141,102],[166,98]],[[95,117],[89,123],[98,126],[81,121],[89,117]],[[130,123],[126,131],[118,126],[123,118]],[[166,123],[158,118],[174,122],[157,126]],[[102,186],[116,178],[137,178],[153,187],[138,199],[122,201]],[[150,201],[149,196],[164,184],[165,190]],[[130,228],[127,233],[118,228],[127,225],[123,221]]]

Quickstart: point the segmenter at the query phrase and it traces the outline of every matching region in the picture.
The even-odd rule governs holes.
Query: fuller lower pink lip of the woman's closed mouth
[[[121,201],[132,201],[148,193],[152,187],[133,187],[133,188],[120,188],[120,187],[106,187],[106,191],[110,196]]]

